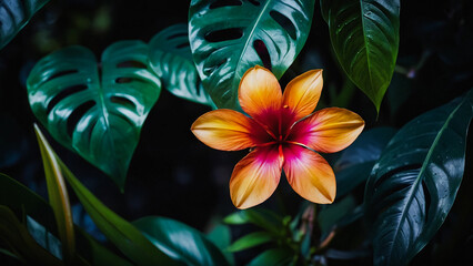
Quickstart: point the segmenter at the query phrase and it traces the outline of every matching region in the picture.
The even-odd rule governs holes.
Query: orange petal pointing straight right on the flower
[[[363,131],[363,119],[346,109],[328,108],[298,122],[288,141],[303,144],[323,153],[339,152]]]

